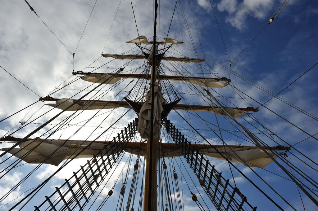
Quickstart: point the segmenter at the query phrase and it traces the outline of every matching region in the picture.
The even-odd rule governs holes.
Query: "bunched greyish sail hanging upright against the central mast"
[[[150,86],[151,87],[151,86]],[[160,88],[155,82],[154,86],[154,122],[153,122],[153,141],[160,139],[161,114],[163,111],[162,104],[165,102],[163,97],[159,94]],[[137,131],[142,138],[150,138],[150,122],[151,122],[151,89],[146,95],[146,102],[142,105],[139,113],[139,123]]]

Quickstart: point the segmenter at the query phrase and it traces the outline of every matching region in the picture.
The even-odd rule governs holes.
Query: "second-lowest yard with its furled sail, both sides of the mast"
[[[73,102],[77,100],[62,98],[56,99],[51,97],[40,98],[42,101],[55,101],[55,103],[48,103],[46,105],[58,108],[66,109]],[[144,102],[136,102],[139,104],[144,104]],[[107,101],[107,100],[80,100],[67,111],[77,111],[77,110],[92,110],[92,109],[116,109],[116,108],[131,108],[131,106],[126,101]],[[188,104],[176,104],[173,109],[175,110],[188,110],[188,111],[204,111],[211,112],[215,114],[220,114],[224,116],[239,117],[251,112],[256,112],[258,109],[252,107],[247,108],[230,108],[230,107],[218,107],[218,106],[203,106],[203,105],[188,105]]]

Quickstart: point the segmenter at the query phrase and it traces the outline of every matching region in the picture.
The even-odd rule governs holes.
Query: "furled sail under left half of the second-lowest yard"
[[[74,99],[67,99],[62,98],[57,100],[55,103],[48,103],[46,105],[56,107],[58,109],[66,109],[68,106],[72,105],[73,102],[76,100]],[[115,109],[119,107],[125,107],[130,108],[130,106],[127,105],[121,105],[118,102],[98,102],[93,100],[80,100],[75,105],[67,109],[67,111],[77,111],[77,110],[93,110],[93,109]]]

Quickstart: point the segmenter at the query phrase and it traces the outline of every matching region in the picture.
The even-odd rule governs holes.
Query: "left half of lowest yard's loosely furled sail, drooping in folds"
[[[12,155],[27,163],[46,163],[58,166],[63,160],[71,159],[79,154],[91,142],[68,140],[28,140],[19,144],[20,148],[9,151]],[[98,155],[105,147],[103,143],[91,143],[76,158],[89,158]],[[9,148],[3,148],[7,150]]]

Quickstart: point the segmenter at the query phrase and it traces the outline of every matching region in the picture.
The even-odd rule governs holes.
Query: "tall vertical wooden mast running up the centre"
[[[144,211],[157,210],[157,153],[156,141],[153,141],[154,129],[154,92],[156,80],[156,22],[157,22],[157,0],[155,1],[155,18],[154,18],[154,41],[153,41],[153,57],[151,68],[151,118],[150,118],[150,139],[147,140],[146,170],[144,183]]]

